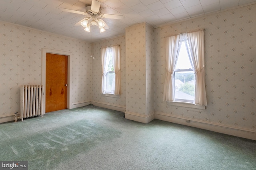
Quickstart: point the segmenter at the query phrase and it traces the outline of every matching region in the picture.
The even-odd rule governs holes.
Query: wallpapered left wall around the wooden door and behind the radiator
[[[42,84],[42,48],[73,54],[71,101],[90,101],[90,43],[0,21],[0,117],[19,111],[20,86]]]

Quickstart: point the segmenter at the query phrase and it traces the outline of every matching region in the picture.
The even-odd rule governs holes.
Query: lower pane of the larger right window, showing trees
[[[175,100],[193,102],[195,98],[195,74],[193,71],[174,73]]]

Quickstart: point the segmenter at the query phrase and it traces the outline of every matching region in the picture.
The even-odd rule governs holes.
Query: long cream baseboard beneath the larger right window
[[[252,130],[252,129],[234,127],[234,126],[230,126],[230,125],[223,125],[220,123],[202,121],[202,120],[198,120],[198,119],[190,119],[190,118],[186,118],[186,117],[168,115],[168,114],[164,114],[164,113],[155,113],[155,119],[168,121],[168,122],[172,122],[172,123],[178,123],[181,125],[187,125],[187,126],[191,126],[191,127],[197,127],[200,129],[206,129],[209,131],[224,133],[227,135],[243,137],[246,139],[256,140],[256,131]],[[190,122],[188,123],[188,122],[186,122],[186,120],[189,120]]]

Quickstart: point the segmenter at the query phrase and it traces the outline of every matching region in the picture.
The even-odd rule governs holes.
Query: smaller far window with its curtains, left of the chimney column
[[[120,95],[120,47],[102,49],[102,94]]]

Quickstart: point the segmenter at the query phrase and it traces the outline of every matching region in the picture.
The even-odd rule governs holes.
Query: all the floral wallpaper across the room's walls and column
[[[90,43],[0,21],[0,117],[19,110],[19,87],[42,84],[42,48],[73,53],[72,103],[92,101],[127,112],[188,117],[256,130],[256,4]],[[205,29],[205,110],[163,102],[165,37]],[[121,95],[101,95],[101,48],[121,47]],[[92,47],[92,52],[91,52]],[[95,59],[90,58],[93,55]]]

